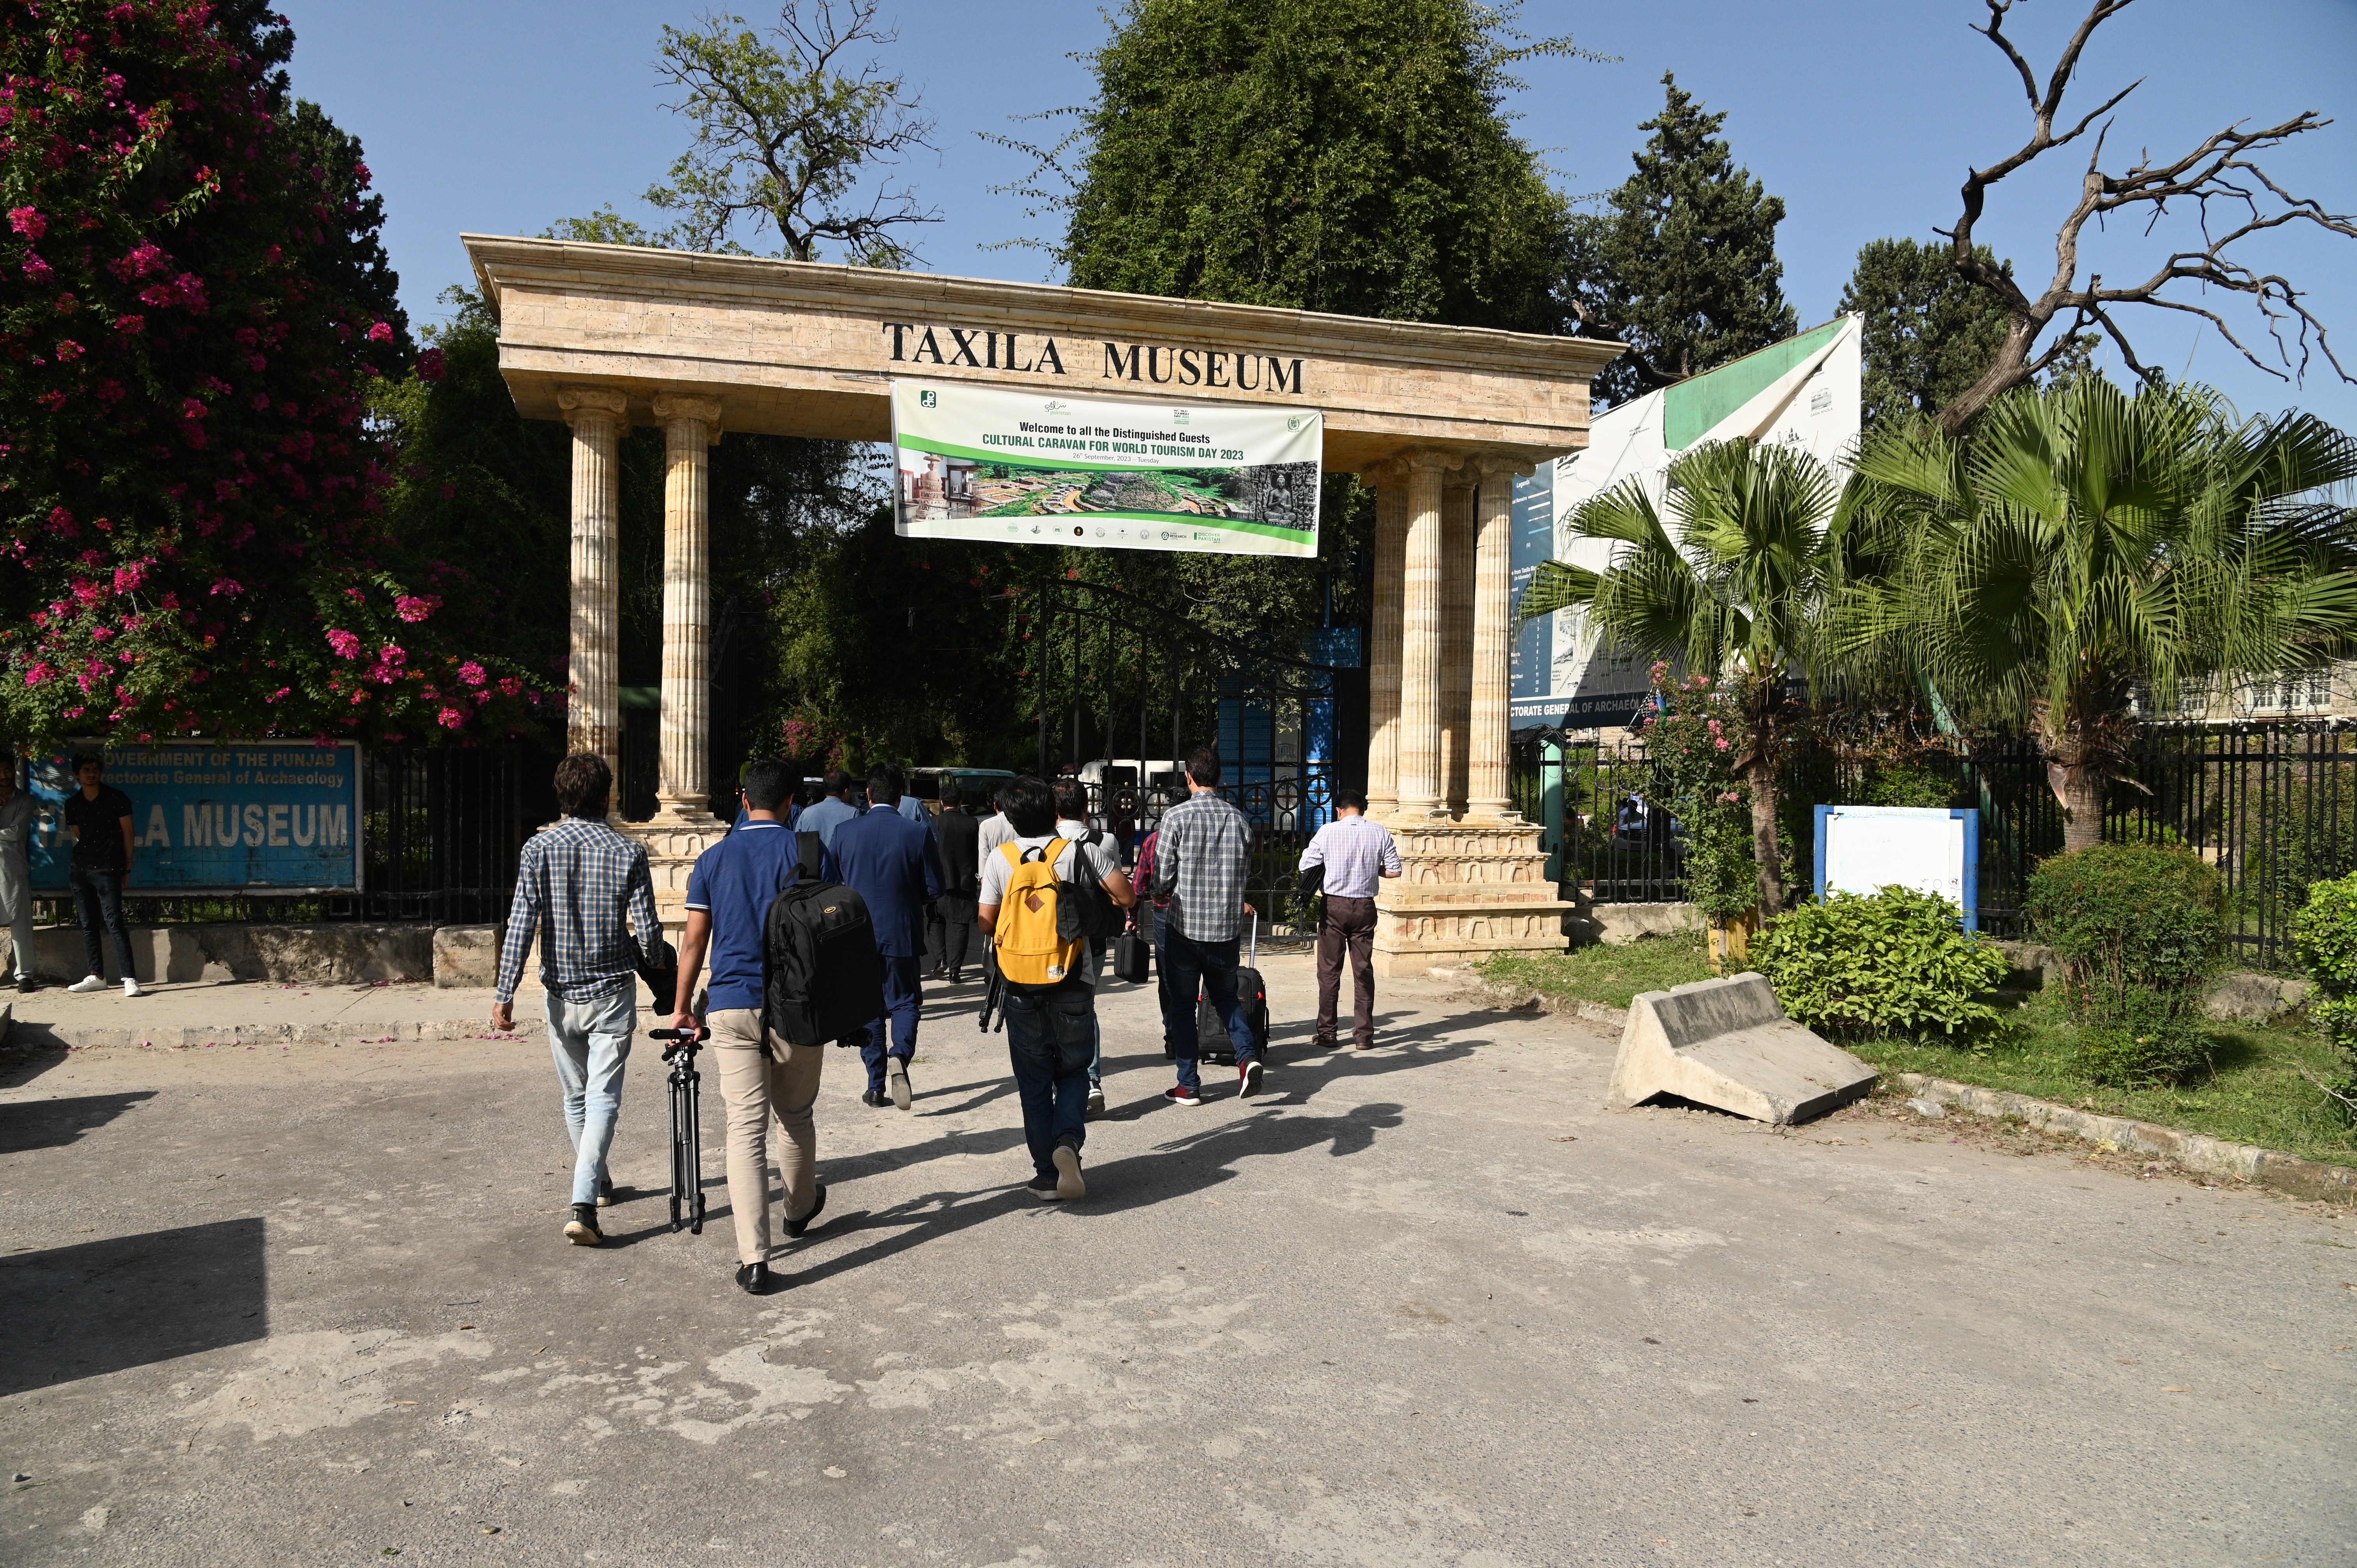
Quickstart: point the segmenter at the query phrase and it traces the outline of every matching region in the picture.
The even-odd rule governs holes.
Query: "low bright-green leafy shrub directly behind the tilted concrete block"
[[[1985,1028],[1999,1014],[1980,993],[2006,979],[2003,955],[1963,929],[1954,903],[1907,887],[1803,903],[1751,938],[1749,964],[1787,1014],[1836,1035]]]

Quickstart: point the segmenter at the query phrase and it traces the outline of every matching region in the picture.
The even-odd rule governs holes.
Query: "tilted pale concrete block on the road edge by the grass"
[[[1805,1122],[1874,1087],[1874,1068],[1784,1016],[1761,974],[1640,993],[1612,1061],[1612,1101],[1676,1094],[1758,1122]]]

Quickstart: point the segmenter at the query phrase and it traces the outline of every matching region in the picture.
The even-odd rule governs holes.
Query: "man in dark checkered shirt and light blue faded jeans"
[[[566,1132],[573,1137],[573,1219],[566,1221],[566,1240],[577,1247],[606,1240],[596,1212],[613,1203],[606,1151],[622,1111],[629,1037],[639,1026],[639,967],[658,960],[665,946],[646,846],[606,825],[610,795],[613,771],[601,757],[575,752],[556,764],[556,806],[566,816],[523,844],[490,1009],[495,1030],[516,1028],[523,957],[533,950],[533,931],[542,929],[540,983],[547,990],[549,1054],[556,1056]]]

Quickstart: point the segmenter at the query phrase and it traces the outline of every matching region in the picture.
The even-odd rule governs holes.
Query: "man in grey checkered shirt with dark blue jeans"
[[[1155,839],[1155,898],[1169,898],[1162,917],[1162,1033],[1178,1063],[1178,1085],[1162,1096],[1174,1106],[1202,1103],[1195,1068],[1195,997],[1211,997],[1211,1012],[1235,1042],[1237,1094],[1261,1092],[1261,1052],[1252,1016],[1235,995],[1235,936],[1254,913],[1244,903],[1244,865],[1252,856],[1252,823],[1219,795],[1219,752],[1197,747],[1186,759],[1188,797],[1162,813]]]

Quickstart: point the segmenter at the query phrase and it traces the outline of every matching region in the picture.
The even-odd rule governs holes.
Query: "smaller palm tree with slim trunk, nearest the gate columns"
[[[1732,679],[1751,719],[1737,771],[1751,795],[1761,913],[1784,908],[1777,839],[1777,762],[1791,729],[1784,684],[1815,663],[1822,606],[1843,580],[1841,486],[1808,453],[1751,441],[1697,446],[1669,467],[1664,523],[1640,479],[1570,516],[1579,538],[1610,540],[1603,571],[1546,561],[1523,594],[1523,618],[1586,611],[1617,653],[1678,660]]]

